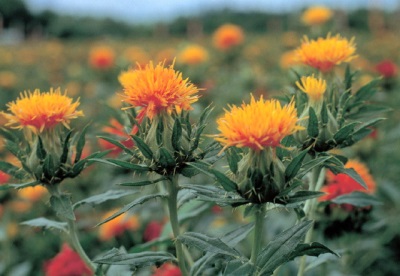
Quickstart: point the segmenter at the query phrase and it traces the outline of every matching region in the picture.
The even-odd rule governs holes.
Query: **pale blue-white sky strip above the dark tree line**
[[[130,22],[151,22],[230,8],[266,12],[298,11],[310,5],[354,9],[380,6],[394,10],[400,0],[24,0],[33,11],[53,10],[69,15],[106,16]]]

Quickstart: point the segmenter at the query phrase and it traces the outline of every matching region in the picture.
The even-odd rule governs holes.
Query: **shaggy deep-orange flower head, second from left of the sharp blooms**
[[[173,110],[191,110],[196,102],[199,89],[182,78],[182,73],[174,70],[173,65],[164,67],[164,63],[154,66],[152,62],[137,69],[123,72],[119,81],[124,88],[124,101],[132,107],[140,107],[140,121],[144,115],[152,120],[156,115]]]

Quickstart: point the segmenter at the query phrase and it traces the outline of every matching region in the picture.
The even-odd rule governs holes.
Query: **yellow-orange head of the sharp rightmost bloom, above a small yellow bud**
[[[357,55],[354,38],[348,41],[336,35],[326,38],[309,40],[307,36],[299,48],[296,49],[297,58],[300,63],[314,67],[322,72],[330,71],[335,65],[349,62]]]

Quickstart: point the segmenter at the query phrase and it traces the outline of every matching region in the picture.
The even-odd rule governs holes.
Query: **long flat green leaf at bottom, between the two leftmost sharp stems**
[[[177,262],[176,258],[167,252],[125,253],[113,248],[93,260],[97,264],[129,265],[135,268],[151,266],[165,262]]]

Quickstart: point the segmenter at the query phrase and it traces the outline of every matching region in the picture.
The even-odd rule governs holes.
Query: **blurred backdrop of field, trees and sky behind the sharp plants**
[[[315,6],[324,6],[330,15],[305,16],[307,9]],[[228,26],[225,33],[222,26]],[[354,37],[358,58],[350,66],[358,71],[355,88],[381,78],[374,101],[391,111],[374,135],[346,150],[348,157],[368,165],[383,204],[361,217],[332,218],[332,223],[342,220],[351,224],[339,236],[324,237],[342,257],[319,258],[325,262],[325,273],[317,270],[315,275],[398,275],[399,0],[0,0],[0,108],[6,110],[6,104],[23,91],[61,87],[69,96],[80,97],[85,119],[74,122],[74,127],[91,123],[87,151],[103,150],[110,145],[99,142],[97,135],[111,132],[124,137],[121,124],[113,120],[123,117],[118,75],[150,60],[175,62],[184,77],[203,89],[193,116],[214,104],[206,133],[215,134],[213,121],[228,104],[247,101],[250,93],[270,98],[293,91],[296,75],[291,69],[304,72],[293,61],[293,50],[304,35],[317,38],[328,33]],[[224,35],[228,38],[221,42]],[[343,76],[344,66],[337,73]],[[12,159],[2,146],[0,155]],[[74,202],[132,177],[128,172],[104,168],[94,166],[63,184],[74,195]],[[8,181],[9,177],[0,173],[0,182]],[[133,246],[146,241],[146,230],[154,220],[162,228],[162,216],[154,215],[158,214],[155,203],[139,210],[134,234],[112,239],[99,236],[98,228],[93,227],[99,216],[120,208],[123,202],[81,210],[78,217],[85,230],[81,239],[90,256],[121,243]],[[0,191],[0,275],[42,275],[43,264],[59,252],[62,241],[58,233],[42,233],[19,224],[52,216],[46,204],[48,197],[43,192]],[[224,227],[239,223],[241,217],[231,210],[208,211],[198,216],[196,227],[213,234],[226,232]],[[357,227],[352,227],[354,220]],[[285,225],[278,218],[275,221],[275,226],[269,227],[270,236]],[[293,275],[295,269],[289,265],[281,273]]]

